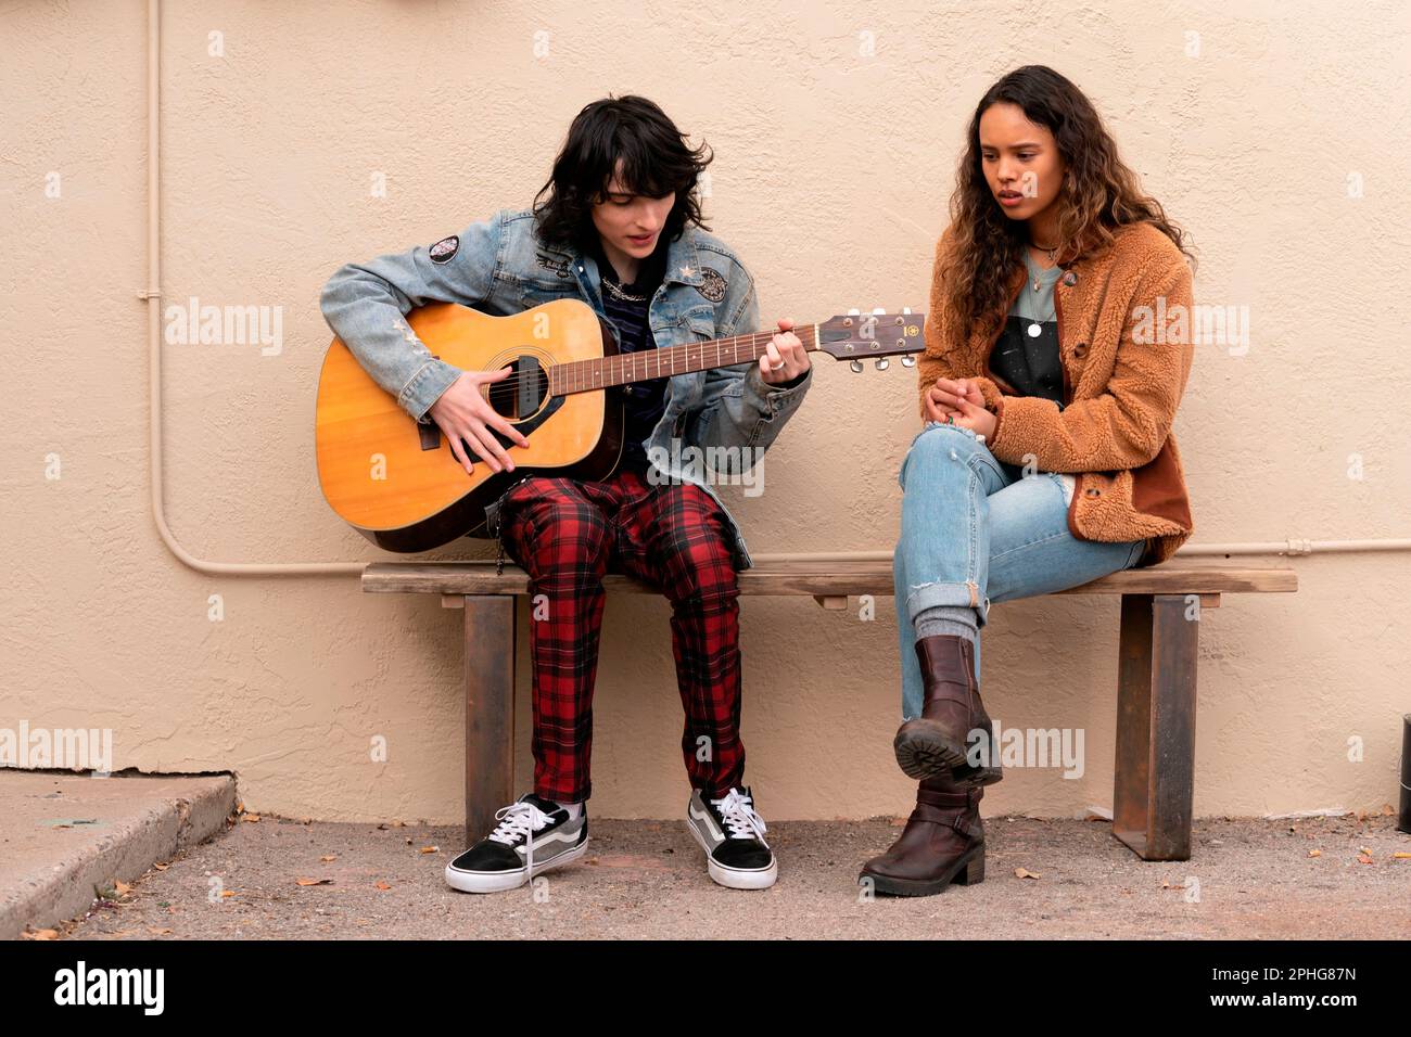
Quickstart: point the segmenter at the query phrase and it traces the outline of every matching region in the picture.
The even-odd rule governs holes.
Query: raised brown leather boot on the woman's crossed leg
[[[907,777],[951,777],[965,784],[993,784],[1003,779],[995,727],[979,700],[975,683],[975,648],[969,638],[938,633],[917,638],[926,701],[921,715],[906,721],[896,732],[896,762]],[[972,731],[983,731],[989,759],[971,763]]]

